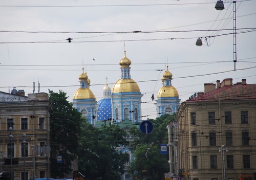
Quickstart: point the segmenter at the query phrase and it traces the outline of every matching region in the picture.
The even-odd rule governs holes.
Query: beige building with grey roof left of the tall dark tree
[[[49,107],[46,93],[0,92],[1,171],[12,172],[13,179],[50,174]]]

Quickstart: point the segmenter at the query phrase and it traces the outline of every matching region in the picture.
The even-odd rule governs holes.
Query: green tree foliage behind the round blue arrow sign
[[[168,155],[160,153],[161,144],[168,143],[167,124],[174,121],[175,115],[163,115],[151,121],[154,129],[150,134],[143,134],[139,129],[131,128],[132,136],[137,137],[131,143],[134,161],[129,172],[138,179],[163,179],[164,173],[169,171]]]

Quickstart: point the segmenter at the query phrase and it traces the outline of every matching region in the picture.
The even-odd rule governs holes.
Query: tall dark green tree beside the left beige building
[[[51,176],[63,177],[72,169],[71,161],[76,158],[80,136],[81,114],[67,101],[67,94],[49,90],[50,108],[50,145]],[[62,163],[57,163],[57,155]]]

